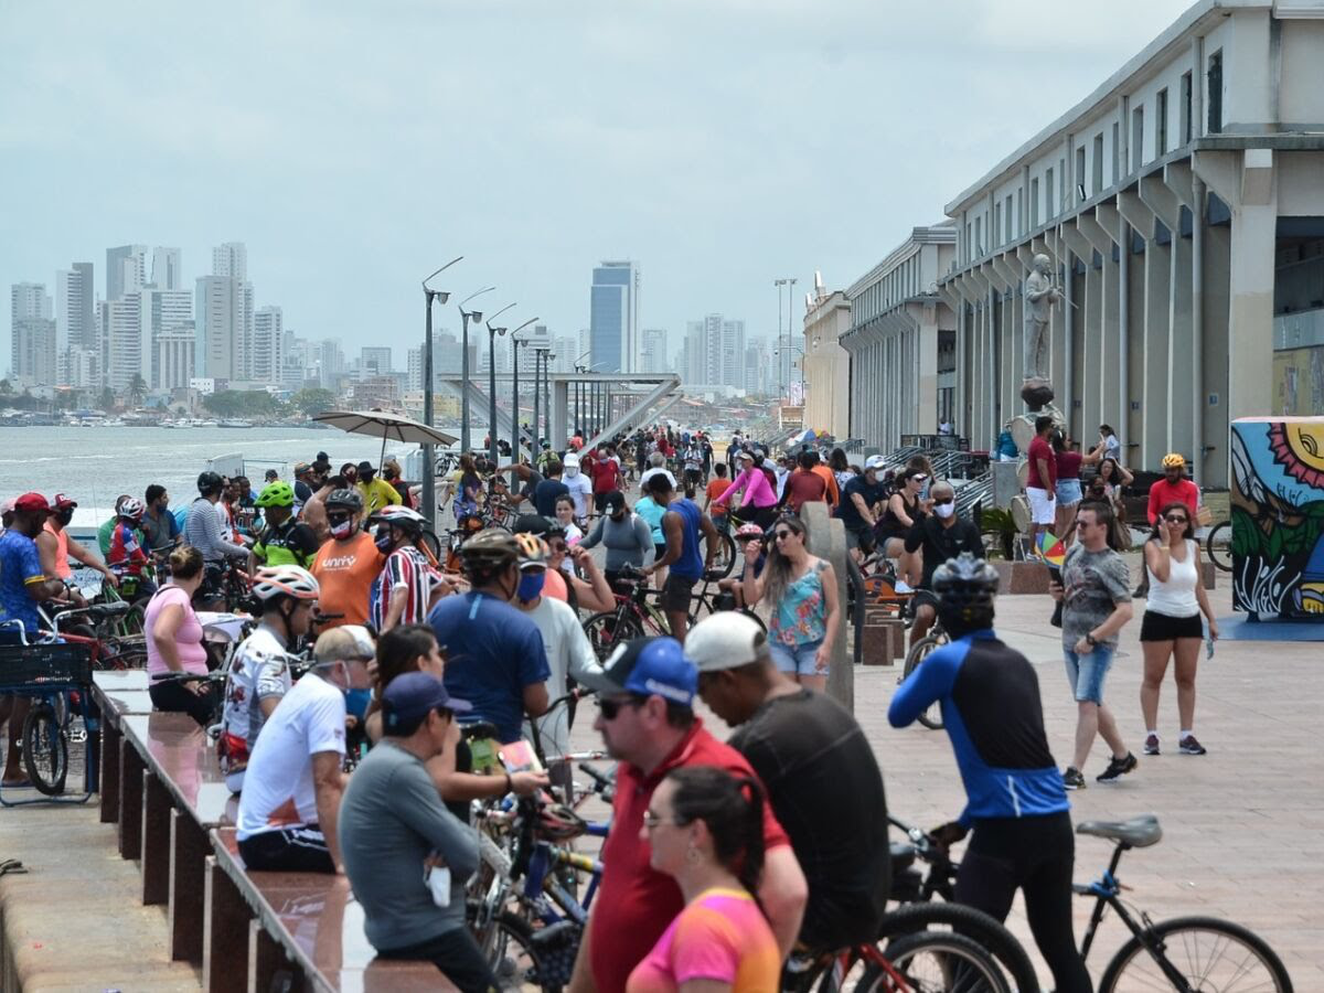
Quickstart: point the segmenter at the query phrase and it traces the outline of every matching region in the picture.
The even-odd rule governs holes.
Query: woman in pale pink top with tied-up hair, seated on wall
[[[148,678],[169,673],[207,675],[203,625],[193,613],[193,593],[203,585],[203,553],[180,545],[169,556],[171,580],[156,591],[143,614]],[[148,687],[156,710],[181,711],[203,727],[216,716],[214,683],[164,682]]]

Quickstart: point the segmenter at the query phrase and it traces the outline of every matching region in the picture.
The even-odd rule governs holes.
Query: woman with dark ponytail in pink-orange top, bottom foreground
[[[711,765],[674,769],[643,814],[649,863],[685,910],[630,973],[625,993],[767,993],[781,955],[751,895],[763,871],[763,789]]]

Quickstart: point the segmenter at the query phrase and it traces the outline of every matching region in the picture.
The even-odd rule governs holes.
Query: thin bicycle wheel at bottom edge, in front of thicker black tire
[[[993,956],[964,935],[922,931],[888,943],[883,955],[915,993],[1012,993]],[[855,990],[895,988],[887,970],[871,963]]]

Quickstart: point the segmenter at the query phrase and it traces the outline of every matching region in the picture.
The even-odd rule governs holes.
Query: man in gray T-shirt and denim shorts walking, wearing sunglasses
[[[1076,699],[1075,755],[1062,773],[1067,789],[1084,789],[1080,769],[1096,735],[1112,749],[1112,761],[1096,777],[1116,782],[1139,764],[1121,741],[1117,722],[1103,702],[1103,679],[1117,651],[1117,632],[1131,620],[1131,573],[1108,547],[1112,507],[1086,502],[1076,511],[1078,542],[1062,564],[1061,583],[1049,591],[1062,601],[1062,653]]]

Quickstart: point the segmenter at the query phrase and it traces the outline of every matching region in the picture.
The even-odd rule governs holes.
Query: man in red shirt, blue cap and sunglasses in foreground
[[[675,879],[649,865],[642,837],[653,790],[671,771],[714,765],[749,776],[749,763],[703,727],[694,714],[698,673],[674,638],[636,638],[621,645],[600,673],[585,674],[597,690],[593,727],[613,759],[616,797],[612,833],[602,846],[602,886],[589,916],[571,993],[620,993],[685,906]],[[759,900],[781,955],[794,944],[804,916],[804,873],[772,808],[764,808],[764,857]]]

